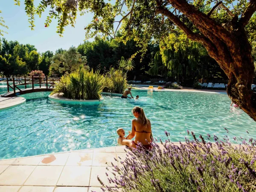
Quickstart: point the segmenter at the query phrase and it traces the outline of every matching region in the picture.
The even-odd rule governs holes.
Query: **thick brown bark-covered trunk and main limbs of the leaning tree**
[[[256,11],[256,0],[248,3],[240,20],[237,16],[233,17],[227,25],[231,26],[229,28],[215,22],[186,0],[168,1],[175,9],[186,15],[201,34],[192,32],[172,12],[161,7],[159,1],[157,1],[156,12],[172,20],[188,38],[204,45],[209,55],[218,62],[229,78],[227,94],[230,99],[256,121],[256,93],[251,90],[254,73],[252,47],[244,30],[244,26]]]

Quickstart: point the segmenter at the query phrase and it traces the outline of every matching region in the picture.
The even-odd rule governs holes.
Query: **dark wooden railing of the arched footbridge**
[[[16,81],[16,83],[15,83]],[[48,76],[23,76],[23,77],[19,77],[19,78],[12,78],[12,85],[9,83],[9,78],[6,79],[6,83],[7,83],[7,92],[10,92],[10,88],[13,90],[14,93],[16,93],[16,88],[17,90],[20,91],[20,93],[22,93],[22,90],[20,89],[21,87],[18,86],[25,86],[25,89],[27,87],[31,88],[34,91],[35,87],[41,88],[42,85],[44,85],[44,87],[46,87],[46,90],[48,90],[48,88],[54,88],[54,86],[56,85],[56,81],[59,81],[59,78],[54,78],[54,77],[48,77]],[[36,86],[38,85],[38,86]]]

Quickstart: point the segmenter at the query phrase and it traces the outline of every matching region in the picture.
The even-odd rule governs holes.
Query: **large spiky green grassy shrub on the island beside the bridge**
[[[62,76],[51,95],[64,93],[69,99],[100,99],[104,86],[104,77],[99,71],[89,72],[81,65],[79,70]]]

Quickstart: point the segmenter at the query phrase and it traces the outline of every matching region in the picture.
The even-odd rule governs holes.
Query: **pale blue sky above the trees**
[[[34,0],[35,5],[38,5],[41,0]],[[24,0],[20,0],[20,6],[14,5],[14,0],[0,0],[1,17],[5,20],[5,24],[9,29],[1,27],[8,34],[4,34],[3,38],[8,41],[18,41],[20,44],[35,45],[38,52],[47,50],[55,52],[62,48],[68,49],[71,46],[77,47],[85,40],[84,27],[87,26],[93,18],[93,15],[88,13],[83,16],[78,15],[75,28],[67,26],[63,37],[59,37],[57,31],[57,20],[52,19],[49,27],[45,27],[44,23],[48,16],[48,12],[44,12],[39,18],[35,15],[35,30],[29,28],[28,16],[25,12]],[[93,39],[89,39],[93,41]]]

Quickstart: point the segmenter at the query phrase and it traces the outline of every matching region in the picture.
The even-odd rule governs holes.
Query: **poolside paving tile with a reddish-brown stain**
[[[45,155],[39,165],[64,166],[70,153]]]

